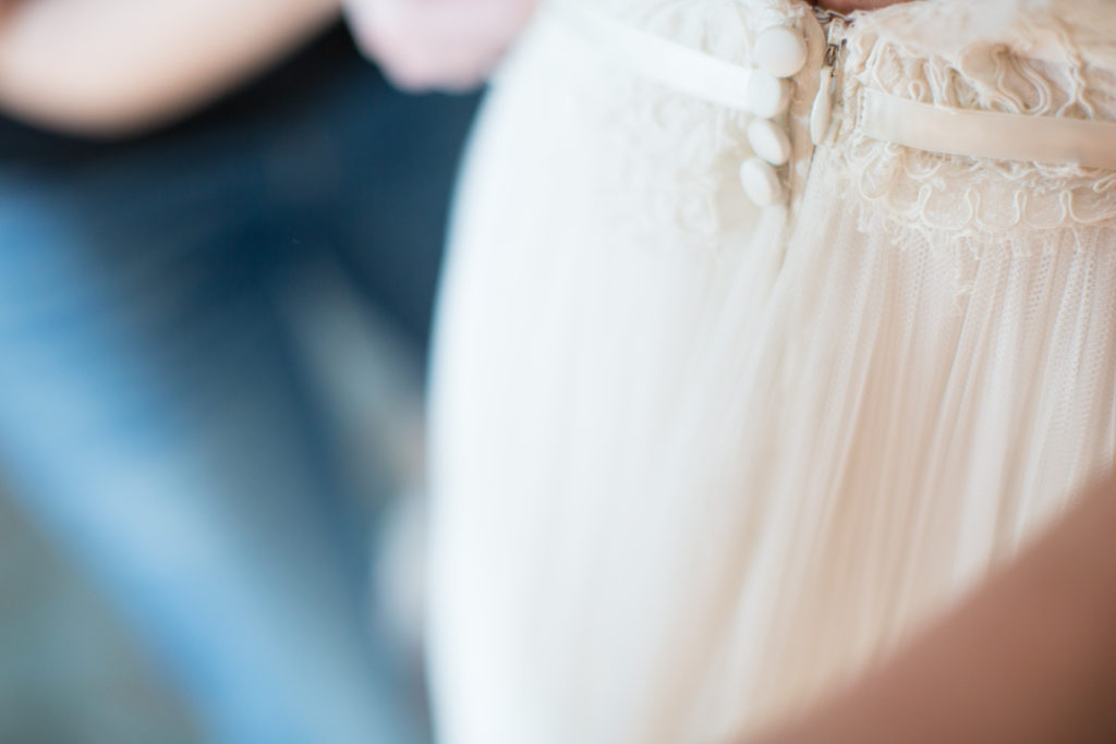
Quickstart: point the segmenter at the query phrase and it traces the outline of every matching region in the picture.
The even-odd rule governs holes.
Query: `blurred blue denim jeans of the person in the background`
[[[421,181],[413,162],[362,143],[419,136],[444,158],[471,104],[410,106],[368,80],[339,75],[280,119],[0,167],[0,472],[215,741],[423,737],[369,634],[366,514],[287,325],[286,288],[315,260],[395,288],[400,269],[369,257],[393,254],[393,235],[440,241],[452,163],[407,185],[391,175]],[[392,107],[427,118],[389,125]],[[424,301],[405,322],[421,326]]]

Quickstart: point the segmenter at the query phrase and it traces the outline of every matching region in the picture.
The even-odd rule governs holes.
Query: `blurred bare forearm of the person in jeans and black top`
[[[0,0],[0,107],[124,135],[196,108],[339,13],[340,0]]]

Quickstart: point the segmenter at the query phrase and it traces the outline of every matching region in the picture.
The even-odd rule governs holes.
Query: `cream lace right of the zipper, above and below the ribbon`
[[[1087,62],[1090,50],[1076,44],[1079,35],[1065,20],[1031,13],[1004,40],[927,54],[908,46],[904,33],[918,26],[911,15],[933,4],[903,17],[857,17],[846,41],[845,118],[830,153],[870,203],[863,228],[988,240],[990,233],[1007,239],[1016,230],[1116,221],[1116,172],[929,153],[856,132],[855,105],[865,88],[953,108],[1116,119],[1116,74]],[[1107,17],[1098,22],[1113,25]]]

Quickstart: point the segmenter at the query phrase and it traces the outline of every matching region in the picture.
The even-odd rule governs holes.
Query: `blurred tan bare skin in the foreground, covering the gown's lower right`
[[[889,661],[749,744],[1116,741],[1116,476]]]

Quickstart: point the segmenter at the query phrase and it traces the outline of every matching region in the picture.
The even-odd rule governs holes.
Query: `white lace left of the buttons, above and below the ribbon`
[[[783,3],[775,4],[768,11],[772,18],[786,16]],[[752,64],[754,9],[735,1],[594,0],[594,7],[633,28]],[[715,251],[756,223],[759,211],[738,175],[751,156],[749,115],[607,65],[588,87],[591,94],[580,91],[587,96],[585,110],[599,117],[596,189],[606,207],[600,224],[616,225],[627,238],[637,232],[644,248]]]

